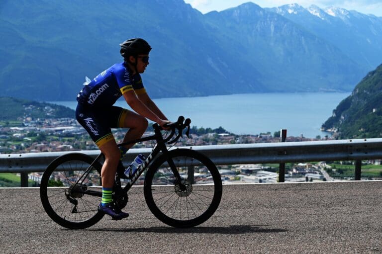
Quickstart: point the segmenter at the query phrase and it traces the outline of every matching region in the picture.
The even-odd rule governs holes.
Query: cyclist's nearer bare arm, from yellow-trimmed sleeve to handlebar
[[[127,104],[138,114],[150,119],[151,121],[154,121],[158,123],[159,125],[163,126],[166,121],[166,119],[161,119],[159,116],[157,116],[153,111],[150,110],[134,93],[133,90],[129,90],[123,93],[123,97],[125,98]]]

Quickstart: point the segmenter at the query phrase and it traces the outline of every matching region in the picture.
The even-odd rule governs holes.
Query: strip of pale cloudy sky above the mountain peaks
[[[278,7],[289,3],[298,3],[303,7],[312,4],[321,8],[334,6],[382,17],[382,0],[185,0],[185,2],[190,3],[193,8],[202,13],[212,10],[221,11],[248,1],[252,1],[263,8]]]

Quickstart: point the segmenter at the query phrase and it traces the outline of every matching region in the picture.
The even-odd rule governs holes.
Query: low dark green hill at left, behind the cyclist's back
[[[16,121],[20,118],[73,118],[75,112],[65,106],[12,97],[0,97],[0,121]]]

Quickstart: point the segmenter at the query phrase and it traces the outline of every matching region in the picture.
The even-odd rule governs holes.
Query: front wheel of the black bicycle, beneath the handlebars
[[[177,166],[186,190],[175,184],[167,158]],[[206,156],[191,149],[176,149],[152,163],[146,173],[144,195],[150,211],[163,223],[177,228],[194,227],[208,220],[218,208],[221,176]]]

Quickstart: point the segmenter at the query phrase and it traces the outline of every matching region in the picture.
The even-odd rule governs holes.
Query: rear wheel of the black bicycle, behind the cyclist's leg
[[[66,154],[49,164],[41,178],[42,205],[49,217],[65,228],[88,228],[104,215],[97,210],[100,198],[82,193],[84,189],[100,192],[99,186],[93,187],[99,185],[101,171],[99,162],[95,162],[82,185],[78,184],[70,189],[93,161],[94,159],[85,154]],[[71,201],[78,204],[75,205]]]

